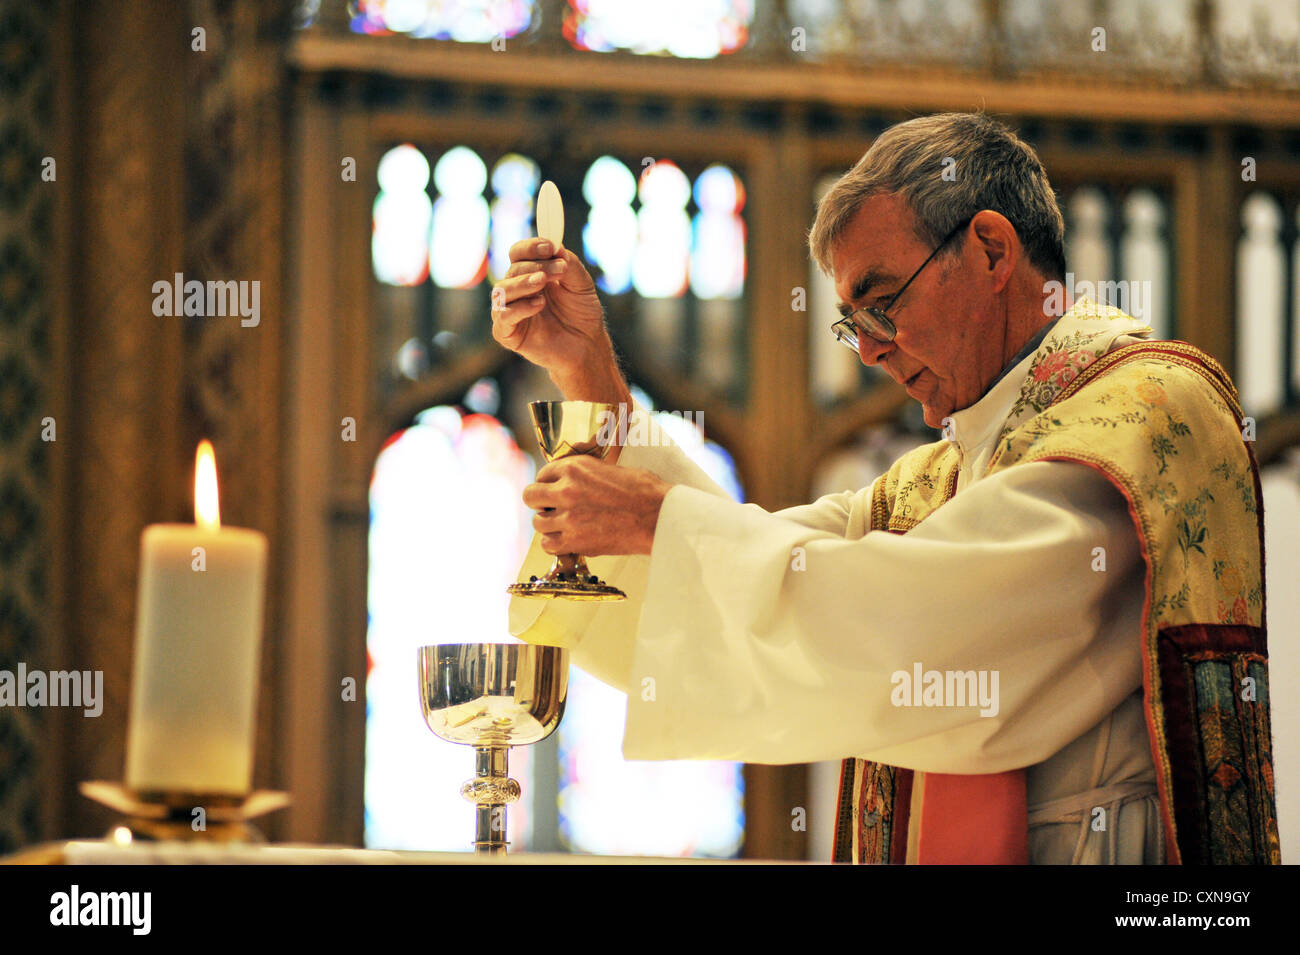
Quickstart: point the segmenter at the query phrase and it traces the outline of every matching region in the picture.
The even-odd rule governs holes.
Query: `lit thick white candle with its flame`
[[[212,446],[199,444],[195,524],[140,535],[126,786],[247,795],[266,537],[222,528]]]

